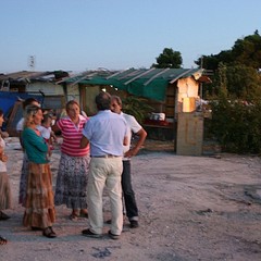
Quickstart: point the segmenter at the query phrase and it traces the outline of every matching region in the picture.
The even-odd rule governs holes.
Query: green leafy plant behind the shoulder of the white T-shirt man
[[[148,116],[153,108],[147,104],[147,100],[144,98],[128,96],[123,99],[123,111],[127,114],[135,116],[135,119],[141,124]]]

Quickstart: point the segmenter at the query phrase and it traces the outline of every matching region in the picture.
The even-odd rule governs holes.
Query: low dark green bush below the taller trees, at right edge
[[[224,151],[261,153],[261,102],[222,98],[211,103],[211,134]]]

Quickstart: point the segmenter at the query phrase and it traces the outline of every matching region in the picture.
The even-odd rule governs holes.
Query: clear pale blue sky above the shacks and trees
[[[190,69],[261,34],[260,0],[0,0],[0,73],[149,69],[164,48]]]

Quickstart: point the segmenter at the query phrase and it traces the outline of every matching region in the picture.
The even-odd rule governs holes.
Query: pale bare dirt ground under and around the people
[[[194,261],[261,260],[261,158],[221,153],[183,157],[170,142],[146,141],[133,159],[133,184],[140,212],[140,227],[127,221],[120,240],[109,239],[104,223],[101,239],[80,235],[85,219],[69,220],[70,210],[58,207],[55,239],[22,226],[23,208],[17,204],[22,151],[9,138],[9,173],[14,208],[0,222],[0,234],[9,239],[0,246],[0,260],[13,261]],[[51,161],[53,185],[59,149]],[[104,192],[104,220],[110,204]]]

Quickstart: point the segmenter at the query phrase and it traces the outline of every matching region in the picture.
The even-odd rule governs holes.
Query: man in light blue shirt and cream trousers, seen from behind
[[[119,239],[123,228],[121,179],[123,146],[127,145],[127,123],[111,112],[111,96],[108,92],[100,92],[96,97],[96,104],[99,112],[86,123],[80,140],[80,148],[90,144],[91,157],[87,185],[90,227],[82,233],[88,237],[101,237],[102,194],[107,186],[112,212],[109,236]]]

